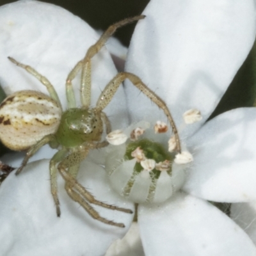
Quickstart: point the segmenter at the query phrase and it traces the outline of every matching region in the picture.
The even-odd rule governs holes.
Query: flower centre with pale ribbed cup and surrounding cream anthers
[[[160,143],[140,139],[149,127],[145,121],[138,123],[135,129],[131,125],[124,132],[116,130],[106,137],[111,144],[105,166],[109,180],[113,189],[132,202],[164,202],[184,184],[185,170],[193,156],[180,147],[179,134],[169,117],[175,131],[168,141],[168,151]],[[186,124],[202,120],[197,109],[189,109],[183,118]],[[154,131],[164,133],[168,131],[168,125],[157,121]],[[130,142],[125,143],[128,139]]]

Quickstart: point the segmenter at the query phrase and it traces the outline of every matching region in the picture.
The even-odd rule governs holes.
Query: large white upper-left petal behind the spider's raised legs
[[[17,1],[1,6],[0,24],[0,81],[6,93],[24,89],[47,93],[35,77],[7,59],[7,56],[12,56],[47,77],[56,88],[63,109],[66,109],[65,81],[68,73],[84,58],[88,47],[96,42],[99,35],[72,13],[38,1]],[[80,74],[73,83],[78,106]],[[104,48],[92,60],[92,106],[115,74],[115,65]],[[111,121],[118,123],[114,122],[115,129],[128,124],[124,99],[124,90],[120,88],[106,108]]]

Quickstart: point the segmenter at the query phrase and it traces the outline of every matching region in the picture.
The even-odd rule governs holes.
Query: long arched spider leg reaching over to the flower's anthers
[[[173,121],[172,115],[167,108],[165,102],[156,95],[152,90],[150,90],[140,79],[140,77],[135,76],[134,74],[128,73],[128,72],[120,72],[118,73],[104,88],[102,93],[100,94],[100,97],[96,104],[96,109],[98,111],[102,111],[106,106],[108,106],[109,102],[113,98],[113,96],[116,93],[116,90],[119,88],[120,84],[125,79],[129,79],[134,86],[136,86],[142,93],[144,93],[150,100],[152,100],[157,106],[161,109],[163,109],[164,114],[167,116],[171,126],[172,131],[175,136],[175,140],[177,142],[177,151],[180,152],[180,140],[179,140],[179,134],[176,128],[176,125]]]

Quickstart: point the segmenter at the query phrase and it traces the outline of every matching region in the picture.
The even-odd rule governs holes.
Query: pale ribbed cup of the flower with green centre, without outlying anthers
[[[109,180],[132,202],[164,202],[184,183],[184,168],[176,168],[174,155],[160,143],[142,139],[111,147],[113,152],[106,163]]]

